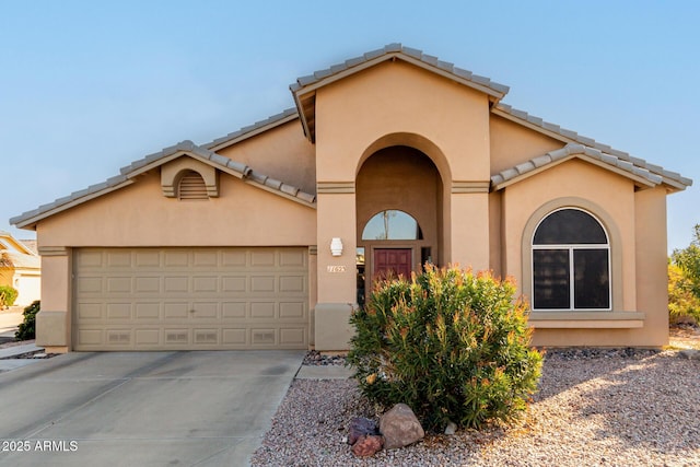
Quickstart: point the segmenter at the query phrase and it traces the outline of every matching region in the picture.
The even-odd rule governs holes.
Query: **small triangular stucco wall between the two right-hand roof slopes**
[[[491,114],[491,174],[562,148],[564,143]]]

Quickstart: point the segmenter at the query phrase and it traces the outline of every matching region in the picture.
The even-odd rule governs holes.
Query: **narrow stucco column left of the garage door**
[[[65,247],[40,247],[42,311],[36,315],[36,345],[48,353],[70,350],[71,252]]]

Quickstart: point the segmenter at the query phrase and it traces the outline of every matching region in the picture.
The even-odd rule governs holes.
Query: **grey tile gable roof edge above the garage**
[[[185,154],[208,163],[222,172],[234,175],[253,186],[257,186],[258,188],[315,208],[315,195],[304,192],[292,185],[275,180],[273,178],[259,174],[245,164],[232,161],[229,157],[224,157],[213,151],[201,148],[191,141],[182,141],[175,145],[165,148],[162,151],[154,152],[153,154],[149,154],[143,159],[121,167],[119,175],[108,178],[101,184],[92,185],[80,191],[74,191],[67,197],[59,198],[54,202],[43,205],[35,210],[27,211],[12,218],[10,219],[10,223],[19,227],[34,224],[57,212],[61,212],[98,196],[103,196],[107,192],[128,186],[135,182],[135,177],[137,175],[151,171]]]

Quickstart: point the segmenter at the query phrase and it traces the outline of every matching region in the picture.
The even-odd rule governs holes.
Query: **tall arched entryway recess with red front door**
[[[442,192],[435,164],[415,148],[392,145],[364,161],[355,179],[358,303],[377,276],[440,257]]]

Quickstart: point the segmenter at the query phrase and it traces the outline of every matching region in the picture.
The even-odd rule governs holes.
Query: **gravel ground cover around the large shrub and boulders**
[[[323,359],[311,354],[306,364]],[[677,351],[549,351],[539,388],[513,427],[428,435],[361,459],[345,442],[348,423],[378,415],[355,383],[295,380],[252,465],[700,466],[698,360]]]

